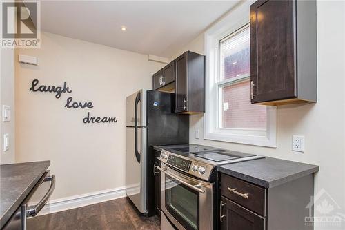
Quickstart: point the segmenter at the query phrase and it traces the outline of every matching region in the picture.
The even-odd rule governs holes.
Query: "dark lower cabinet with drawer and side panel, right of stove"
[[[305,222],[313,213],[313,174],[267,188],[223,173],[220,180],[221,230],[313,230]]]

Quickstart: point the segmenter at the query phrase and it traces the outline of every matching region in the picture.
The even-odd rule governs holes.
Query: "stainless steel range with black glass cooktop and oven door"
[[[262,158],[196,144],[162,149],[161,211],[177,229],[215,229],[217,166]]]

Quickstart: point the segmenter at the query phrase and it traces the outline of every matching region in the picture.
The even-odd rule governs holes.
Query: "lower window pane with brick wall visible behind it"
[[[250,79],[219,88],[220,128],[266,130],[266,106],[250,103]]]

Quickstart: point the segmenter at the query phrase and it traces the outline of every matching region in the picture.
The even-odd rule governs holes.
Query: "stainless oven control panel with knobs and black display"
[[[210,164],[197,162],[190,159],[190,157],[182,157],[164,150],[161,151],[159,160],[161,160],[165,164],[173,166],[181,171],[185,171],[186,173],[194,175],[195,177],[201,178],[203,180],[208,180],[210,177],[210,173],[213,170],[213,166]]]

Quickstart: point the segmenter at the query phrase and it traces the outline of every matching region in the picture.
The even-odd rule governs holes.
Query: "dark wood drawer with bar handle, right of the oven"
[[[221,195],[259,215],[266,216],[266,191],[264,188],[222,173],[220,188]]]

